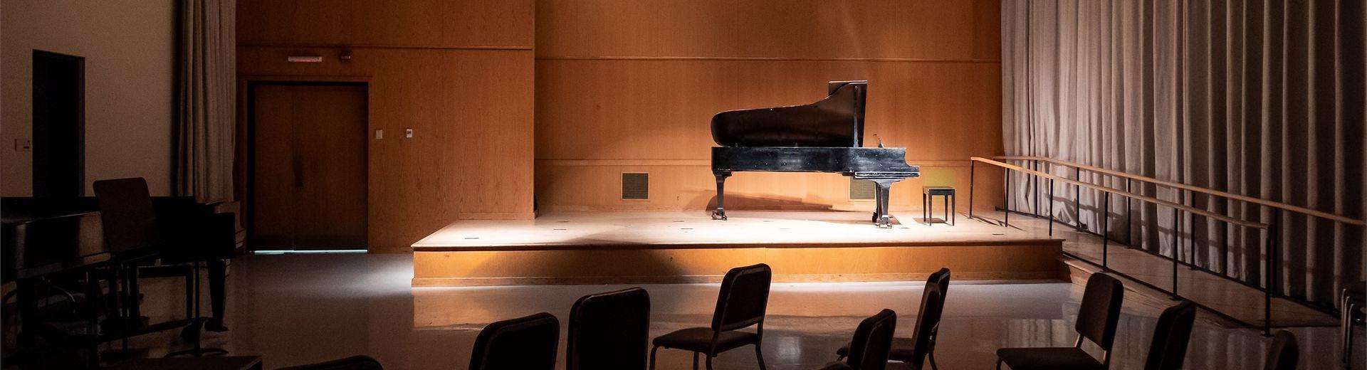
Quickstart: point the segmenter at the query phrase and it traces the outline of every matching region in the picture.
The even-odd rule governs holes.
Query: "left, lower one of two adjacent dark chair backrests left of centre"
[[[540,313],[489,324],[474,337],[470,370],[554,370],[560,321]]]

